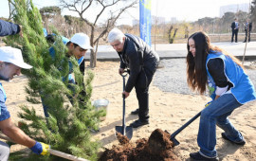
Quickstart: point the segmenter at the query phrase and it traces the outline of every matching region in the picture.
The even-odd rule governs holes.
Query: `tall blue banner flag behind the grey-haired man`
[[[151,0],[139,0],[140,38],[151,46]]]

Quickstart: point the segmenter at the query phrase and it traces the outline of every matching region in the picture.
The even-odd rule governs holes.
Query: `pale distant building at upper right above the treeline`
[[[234,4],[234,5],[222,6],[220,7],[220,17],[222,17],[226,12],[235,13],[239,10],[248,12],[249,4]]]

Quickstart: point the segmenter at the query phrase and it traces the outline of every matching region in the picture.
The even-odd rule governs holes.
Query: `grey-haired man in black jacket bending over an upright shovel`
[[[131,126],[137,128],[149,124],[149,85],[159,63],[158,54],[151,49],[142,39],[131,34],[123,34],[118,28],[109,32],[108,42],[118,52],[120,57],[119,74],[125,68],[130,70],[122,95],[129,97],[135,87],[138,100],[138,119]]]

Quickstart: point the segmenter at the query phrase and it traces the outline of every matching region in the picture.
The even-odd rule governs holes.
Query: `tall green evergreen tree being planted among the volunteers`
[[[83,85],[78,63],[71,58],[77,83],[68,83],[69,63],[65,56],[67,48],[61,37],[57,36],[56,43],[52,45],[55,49],[55,57],[52,58],[48,51],[50,45],[46,43],[43,33],[39,10],[33,6],[31,0],[9,2],[15,10],[14,22],[22,25],[24,37],[9,36],[6,43],[20,48],[27,63],[33,66],[32,69],[23,71],[28,78],[27,101],[41,103],[43,98],[49,113],[48,118],[38,116],[34,108],[23,106],[23,113],[19,116],[26,122],[21,128],[36,140],[51,145],[52,149],[96,160],[100,143],[92,141],[90,132],[98,129],[100,116],[104,116],[105,112],[95,111],[90,102],[93,73],[86,74]],[[58,35],[57,30],[54,32]],[[84,89],[87,94],[85,97],[80,95]],[[72,105],[68,98],[72,98]],[[54,156],[40,157],[46,160],[57,159]]]

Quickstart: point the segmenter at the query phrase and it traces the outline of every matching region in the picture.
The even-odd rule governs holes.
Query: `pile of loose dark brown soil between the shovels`
[[[135,145],[129,143],[129,139],[122,134],[118,134],[117,137],[119,146],[114,145],[111,150],[103,152],[100,161],[180,160],[173,152],[170,134],[160,129],[155,129],[148,139],[138,139]]]

